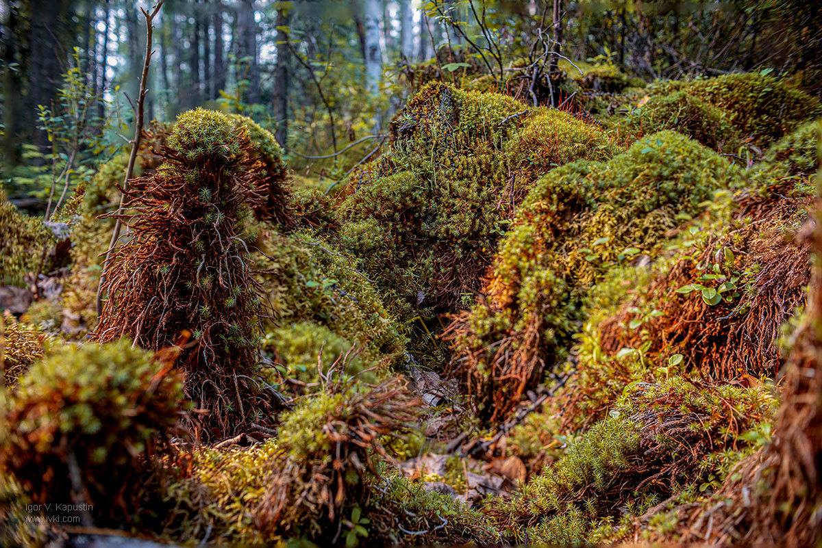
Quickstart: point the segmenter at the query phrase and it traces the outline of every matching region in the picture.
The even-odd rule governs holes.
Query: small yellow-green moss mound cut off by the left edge
[[[0,189],[0,284],[25,286],[29,272],[48,272],[47,252],[56,242],[39,218],[17,211]]]

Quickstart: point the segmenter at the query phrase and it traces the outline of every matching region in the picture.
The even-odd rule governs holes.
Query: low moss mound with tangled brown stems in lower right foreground
[[[732,464],[760,445],[752,432],[769,431],[776,409],[772,391],[759,384],[708,388],[672,377],[626,392],[612,417],[498,505],[511,542],[618,538],[613,524],[625,500],[629,515],[639,517],[681,491],[718,488]]]

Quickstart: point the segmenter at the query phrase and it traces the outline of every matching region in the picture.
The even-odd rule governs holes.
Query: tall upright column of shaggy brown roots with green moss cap
[[[164,163],[132,180],[122,216],[131,238],[111,254],[97,340],[132,336],[149,349],[195,344],[176,365],[186,393],[209,409],[207,435],[228,435],[265,408],[252,379],[258,363],[261,300],[241,236],[261,203],[251,144],[223,114],[178,117]]]

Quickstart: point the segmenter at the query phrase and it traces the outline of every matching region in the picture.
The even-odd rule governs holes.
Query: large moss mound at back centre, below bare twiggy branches
[[[339,238],[405,317],[452,310],[477,289],[538,176],[618,150],[570,114],[438,83],[395,116],[391,134],[390,152],[349,182]]]

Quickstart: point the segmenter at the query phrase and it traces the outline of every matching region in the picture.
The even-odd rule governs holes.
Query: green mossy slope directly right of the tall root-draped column
[[[381,295],[352,260],[301,232],[272,231],[260,243],[265,256],[259,277],[273,316],[266,325],[265,344],[275,359],[304,381],[316,380],[316,358],[323,344],[326,366],[355,345],[358,355],[349,363],[350,372],[384,369],[396,362],[403,353],[404,336],[383,307]]]

